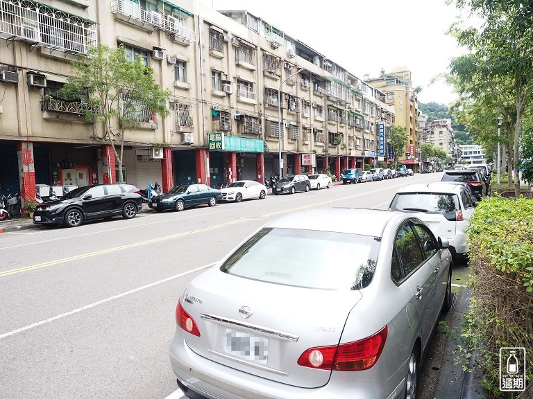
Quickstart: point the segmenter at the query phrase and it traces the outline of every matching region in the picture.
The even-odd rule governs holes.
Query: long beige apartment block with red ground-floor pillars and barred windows
[[[96,44],[124,45],[172,91],[163,120],[139,107],[121,171],[83,99],[59,92],[71,60]],[[35,184],[119,173],[164,190],[264,181],[280,169],[279,143],[284,173],[338,176],[378,159],[395,120],[384,92],[276,26],[191,0],[0,0],[0,91],[0,193],[28,197]]]

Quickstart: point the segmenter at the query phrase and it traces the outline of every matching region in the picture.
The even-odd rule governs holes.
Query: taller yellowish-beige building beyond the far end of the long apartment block
[[[407,67],[397,67],[389,73],[382,71],[379,78],[367,80],[369,85],[380,89],[386,96],[386,104],[394,107],[396,125],[407,129],[409,139],[405,152],[398,154],[398,160],[416,169],[418,165],[417,124],[418,97],[412,87],[411,71]]]

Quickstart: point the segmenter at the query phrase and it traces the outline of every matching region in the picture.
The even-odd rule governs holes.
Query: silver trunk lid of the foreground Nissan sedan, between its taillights
[[[299,366],[316,346],[339,343],[359,291],[265,283],[212,269],[196,278],[183,308],[200,337],[184,332],[198,355],[232,369],[297,387],[321,387],[330,370]]]

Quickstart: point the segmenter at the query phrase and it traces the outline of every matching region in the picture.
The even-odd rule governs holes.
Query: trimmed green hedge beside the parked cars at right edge
[[[497,398],[499,351],[526,348],[533,359],[533,201],[487,197],[477,206],[468,228],[472,299],[462,338],[477,353],[484,387]],[[533,369],[527,388],[516,398],[533,398]]]

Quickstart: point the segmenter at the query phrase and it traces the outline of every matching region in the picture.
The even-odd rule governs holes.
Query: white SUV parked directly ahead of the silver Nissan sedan
[[[468,252],[465,230],[476,203],[459,184],[407,184],[398,190],[389,209],[416,213],[435,236],[446,238],[455,258]]]

